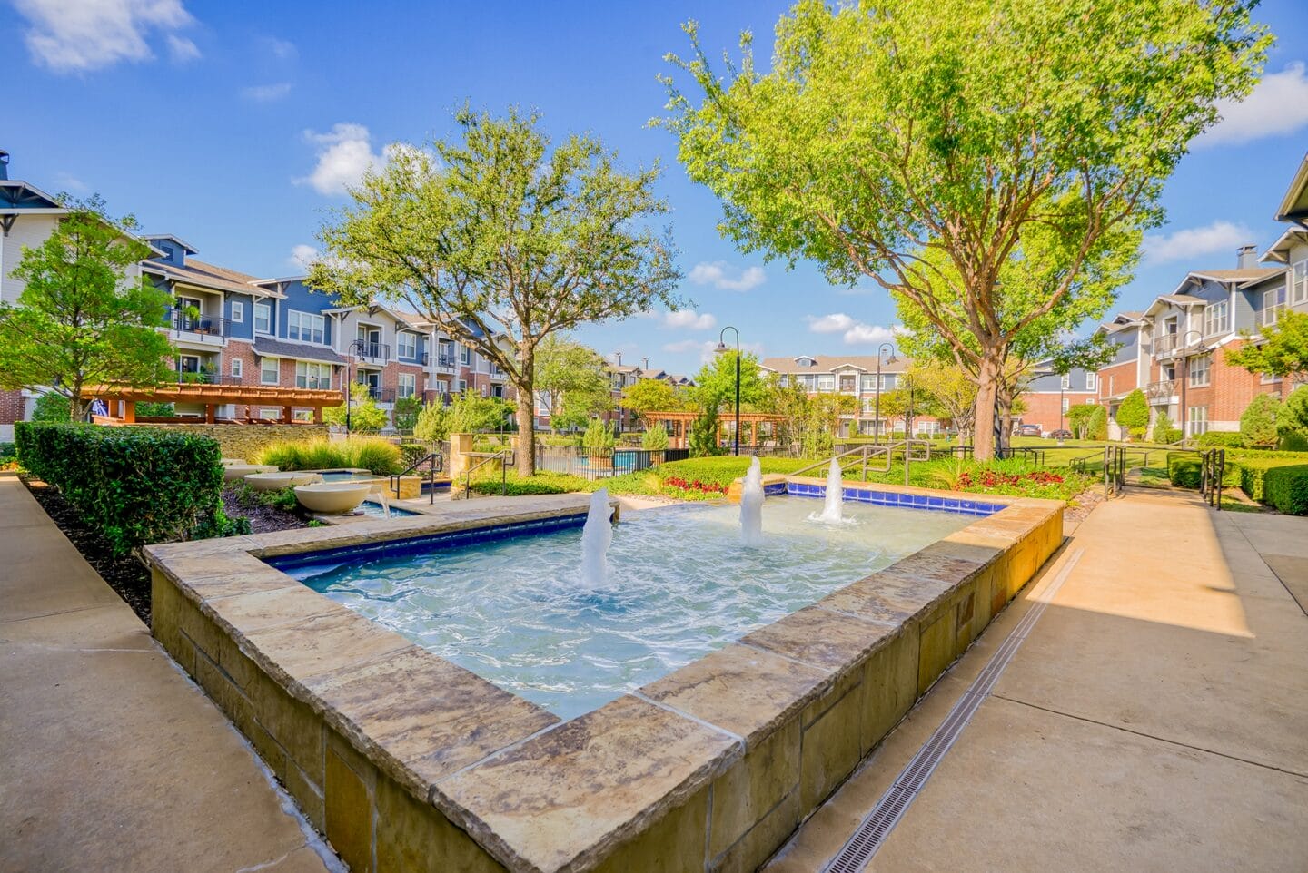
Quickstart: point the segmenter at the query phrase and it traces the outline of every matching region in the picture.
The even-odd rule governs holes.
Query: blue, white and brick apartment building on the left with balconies
[[[67,214],[54,197],[5,178],[0,153],[0,299],[16,302],[22,284],[10,272],[24,246],[38,246]],[[470,345],[413,312],[386,306],[340,307],[303,276],[259,278],[196,257],[171,234],[143,235],[152,255],[140,264],[173,299],[161,327],[177,349],[178,382],[281,386],[344,391],[368,386],[383,408],[396,399],[447,401],[467,389],[511,399],[506,374]],[[0,426],[30,416],[31,392],[0,392]],[[178,414],[203,409],[177,408]],[[222,408],[218,417],[238,410]],[[277,418],[280,409],[250,410]],[[297,414],[307,417],[310,410]]]

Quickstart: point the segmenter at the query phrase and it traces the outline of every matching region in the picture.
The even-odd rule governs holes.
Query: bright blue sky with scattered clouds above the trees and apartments
[[[344,203],[341,182],[387,144],[446,135],[466,101],[534,107],[556,135],[590,131],[629,166],[662,162],[681,291],[695,301],[582,340],[674,371],[696,370],[726,324],[769,355],[870,353],[895,323],[886,295],[736,252],[672,137],[647,127],[664,102],[663,55],[687,47],[681,22],[700,21],[714,52],[752,30],[765,56],[787,5],[0,0],[0,33],[22,38],[10,43],[0,149],[12,178],[99,192],[203,260],[286,276],[302,272],[297,247],[314,244],[323,210]],[[1171,221],[1147,240],[1120,308],[1279,234],[1271,216],[1308,145],[1308,29],[1303,0],[1269,0],[1257,17],[1278,37],[1267,78],[1169,182]]]

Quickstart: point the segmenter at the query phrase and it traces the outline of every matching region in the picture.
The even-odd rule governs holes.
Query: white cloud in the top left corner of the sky
[[[56,73],[149,60],[150,31],[167,37],[174,60],[200,55],[194,42],[173,33],[195,24],[182,0],[16,0],[14,5],[30,25],[24,34],[27,51]]]

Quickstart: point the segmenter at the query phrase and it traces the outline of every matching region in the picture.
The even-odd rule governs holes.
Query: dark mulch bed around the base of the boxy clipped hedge
[[[115,558],[110,554],[109,544],[86,527],[68,501],[59,491],[50,487],[41,480],[22,477],[22,484],[27,486],[37,503],[46,511],[46,515],[63,531],[68,541],[72,542],[95,572],[109,583],[109,587],[118,592],[118,596],[132,608],[143,622],[150,623],[150,571],[136,555]],[[271,533],[273,531],[289,531],[293,528],[309,527],[307,519],[301,519],[290,512],[283,512],[267,506],[245,507],[237,503],[235,491],[224,489],[222,510],[229,516],[243,515],[250,519],[252,533]]]

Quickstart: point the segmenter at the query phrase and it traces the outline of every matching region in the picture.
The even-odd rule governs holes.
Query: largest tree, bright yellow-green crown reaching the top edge
[[[1189,141],[1252,90],[1271,42],[1253,5],[800,0],[766,73],[746,34],[719,76],[688,25],[693,54],[671,60],[702,101],[667,78],[663,123],[738,246],[912,303],[969,361],[988,422],[1015,338],[1087,264],[1134,256]],[[1040,234],[1050,257],[1010,295]],[[974,447],[991,457],[990,427]]]

